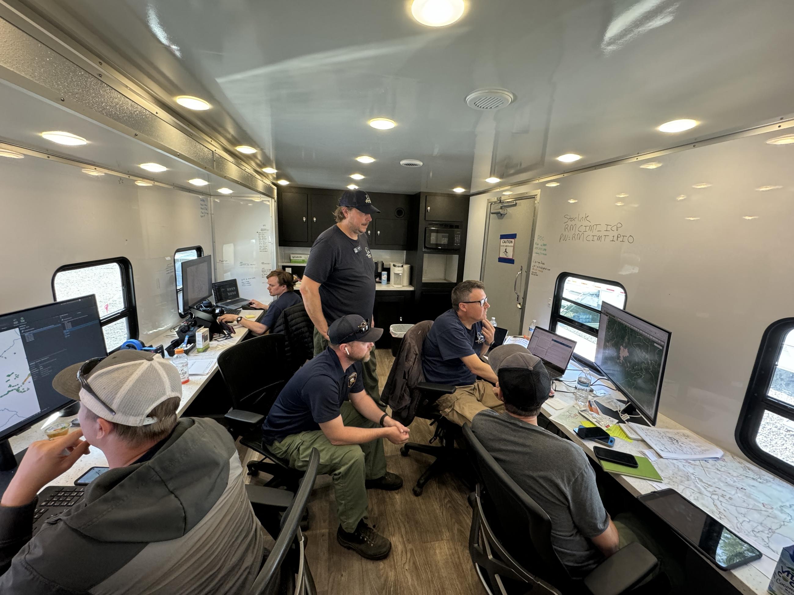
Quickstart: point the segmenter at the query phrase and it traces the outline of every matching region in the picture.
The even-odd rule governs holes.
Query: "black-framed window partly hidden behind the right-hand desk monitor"
[[[595,277],[562,273],[554,287],[549,330],[576,341],[576,355],[595,360],[601,304],[626,307],[626,288]]]

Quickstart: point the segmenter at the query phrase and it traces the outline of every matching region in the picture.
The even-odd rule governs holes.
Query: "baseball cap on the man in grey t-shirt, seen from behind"
[[[495,347],[488,364],[499,378],[504,400],[523,411],[536,409],[549,398],[551,378],[542,359],[521,345]]]

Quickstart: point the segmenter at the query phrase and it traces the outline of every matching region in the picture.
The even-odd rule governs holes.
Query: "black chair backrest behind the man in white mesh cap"
[[[306,539],[300,531],[301,519],[306,511],[309,495],[317,479],[320,452],[313,448],[306,474],[295,493],[295,499],[281,521],[281,531],[268,559],[256,576],[252,595],[316,595],[314,578],[306,562]],[[296,588],[297,587],[297,588]]]

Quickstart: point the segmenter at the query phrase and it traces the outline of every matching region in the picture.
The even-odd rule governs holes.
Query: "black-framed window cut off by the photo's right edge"
[[[794,318],[769,325],[736,424],[747,458],[794,483]]]

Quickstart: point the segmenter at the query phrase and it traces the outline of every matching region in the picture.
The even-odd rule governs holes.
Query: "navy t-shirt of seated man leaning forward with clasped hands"
[[[320,429],[341,415],[350,393],[364,390],[361,363],[342,370],[330,347],[303,364],[281,390],[262,424],[262,440],[272,444],[285,436]]]

